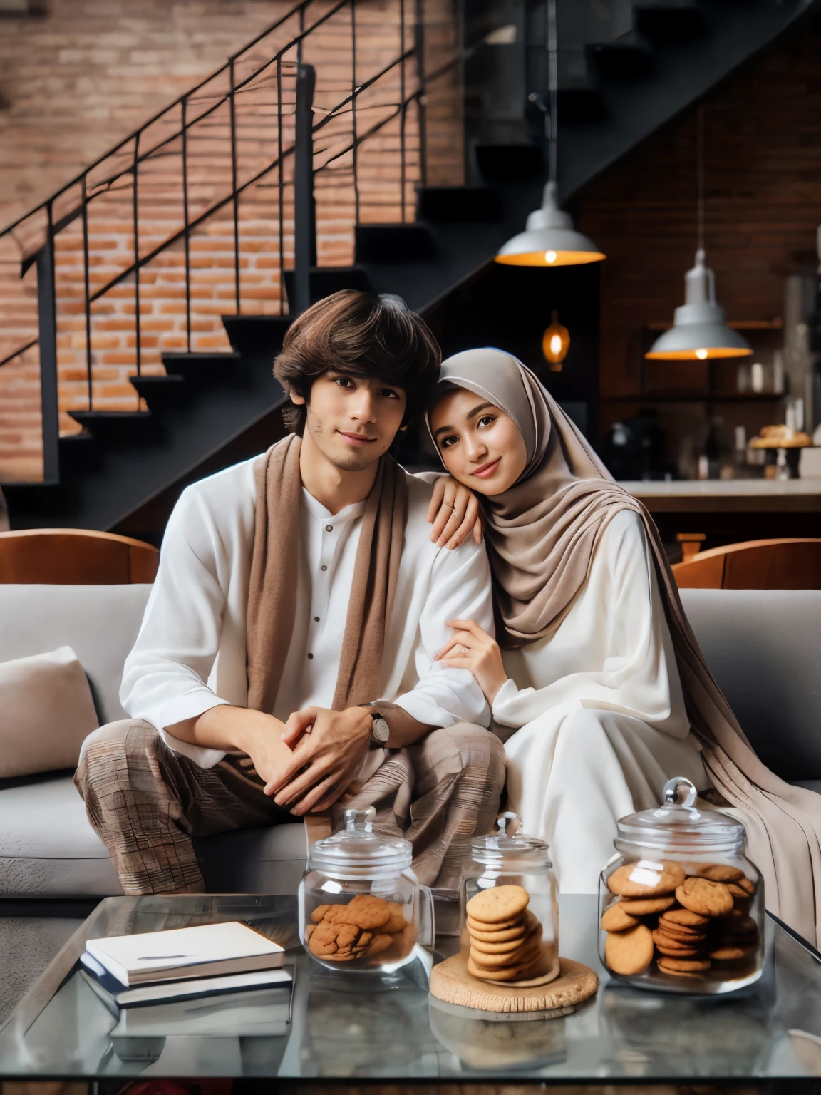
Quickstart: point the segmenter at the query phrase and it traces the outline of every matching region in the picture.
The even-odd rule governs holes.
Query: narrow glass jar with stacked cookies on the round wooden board
[[[550,849],[502,814],[497,831],[471,842],[462,872],[461,953],[492,984],[546,984],[558,976],[558,902]]]

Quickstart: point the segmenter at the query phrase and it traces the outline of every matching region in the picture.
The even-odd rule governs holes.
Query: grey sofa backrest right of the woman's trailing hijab
[[[821,779],[821,590],[682,589],[681,599],[759,757],[784,780]]]

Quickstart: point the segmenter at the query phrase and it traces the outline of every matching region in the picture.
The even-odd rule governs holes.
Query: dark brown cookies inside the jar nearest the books
[[[305,926],[311,954],[325,961],[351,961],[380,956],[396,961],[416,942],[414,925],[405,920],[398,901],[357,894],[347,904],[317,904]]]

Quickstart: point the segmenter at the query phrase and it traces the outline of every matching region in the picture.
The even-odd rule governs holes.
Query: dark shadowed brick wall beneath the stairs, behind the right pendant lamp
[[[817,19],[753,58],[705,101],[707,263],[729,320],[780,316],[786,276],[814,265],[821,222],[819,56]],[[588,187],[578,222],[608,255],[601,312],[606,422],[622,414],[616,404],[608,411],[608,397],[639,390],[643,325],[671,322],[684,302],[683,276],[696,250],[696,108]]]

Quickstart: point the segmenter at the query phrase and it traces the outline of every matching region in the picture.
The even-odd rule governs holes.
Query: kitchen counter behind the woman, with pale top
[[[652,514],[821,512],[821,479],[623,481]]]

